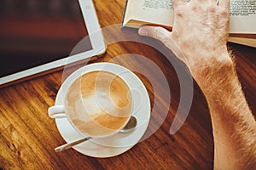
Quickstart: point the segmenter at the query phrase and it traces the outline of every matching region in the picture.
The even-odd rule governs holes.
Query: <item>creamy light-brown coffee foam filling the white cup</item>
[[[125,126],[132,111],[125,81],[108,71],[91,71],[67,91],[67,116],[81,133],[105,136]]]

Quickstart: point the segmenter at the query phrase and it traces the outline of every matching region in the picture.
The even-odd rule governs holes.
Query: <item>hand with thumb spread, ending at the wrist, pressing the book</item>
[[[218,65],[218,61],[231,63],[226,47],[229,7],[229,0],[218,4],[215,0],[176,0],[172,31],[143,26],[139,34],[163,42],[189,67],[195,80],[201,79],[198,72],[207,65]]]

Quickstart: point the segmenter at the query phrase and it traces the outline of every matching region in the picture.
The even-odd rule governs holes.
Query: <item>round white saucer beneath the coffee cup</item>
[[[86,156],[92,157],[118,156],[119,154],[130,150],[135,144],[137,144],[137,142],[139,142],[140,139],[142,139],[143,134],[147,130],[150,119],[150,101],[148,92],[144,87],[143,82],[141,82],[133,72],[123,66],[112,63],[85,65],[79,70],[73,72],[73,74],[67,77],[67,80],[63,82],[56,96],[55,105],[64,104],[63,97],[67,93],[68,84],[73,82],[73,80],[78,78],[81,74],[84,74],[86,71],[98,70],[110,71],[118,74],[119,77],[122,77],[125,82],[127,82],[130,88],[137,88],[137,92],[139,92],[139,94],[132,94],[135,111],[133,116],[137,118],[137,127],[130,133],[117,133],[114,136],[104,139],[90,139],[89,141],[74,146],[73,149]],[[83,138],[83,136],[74,129],[67,118],[56,118],[55,123],[62,138],[65,139],[67,143]]]

